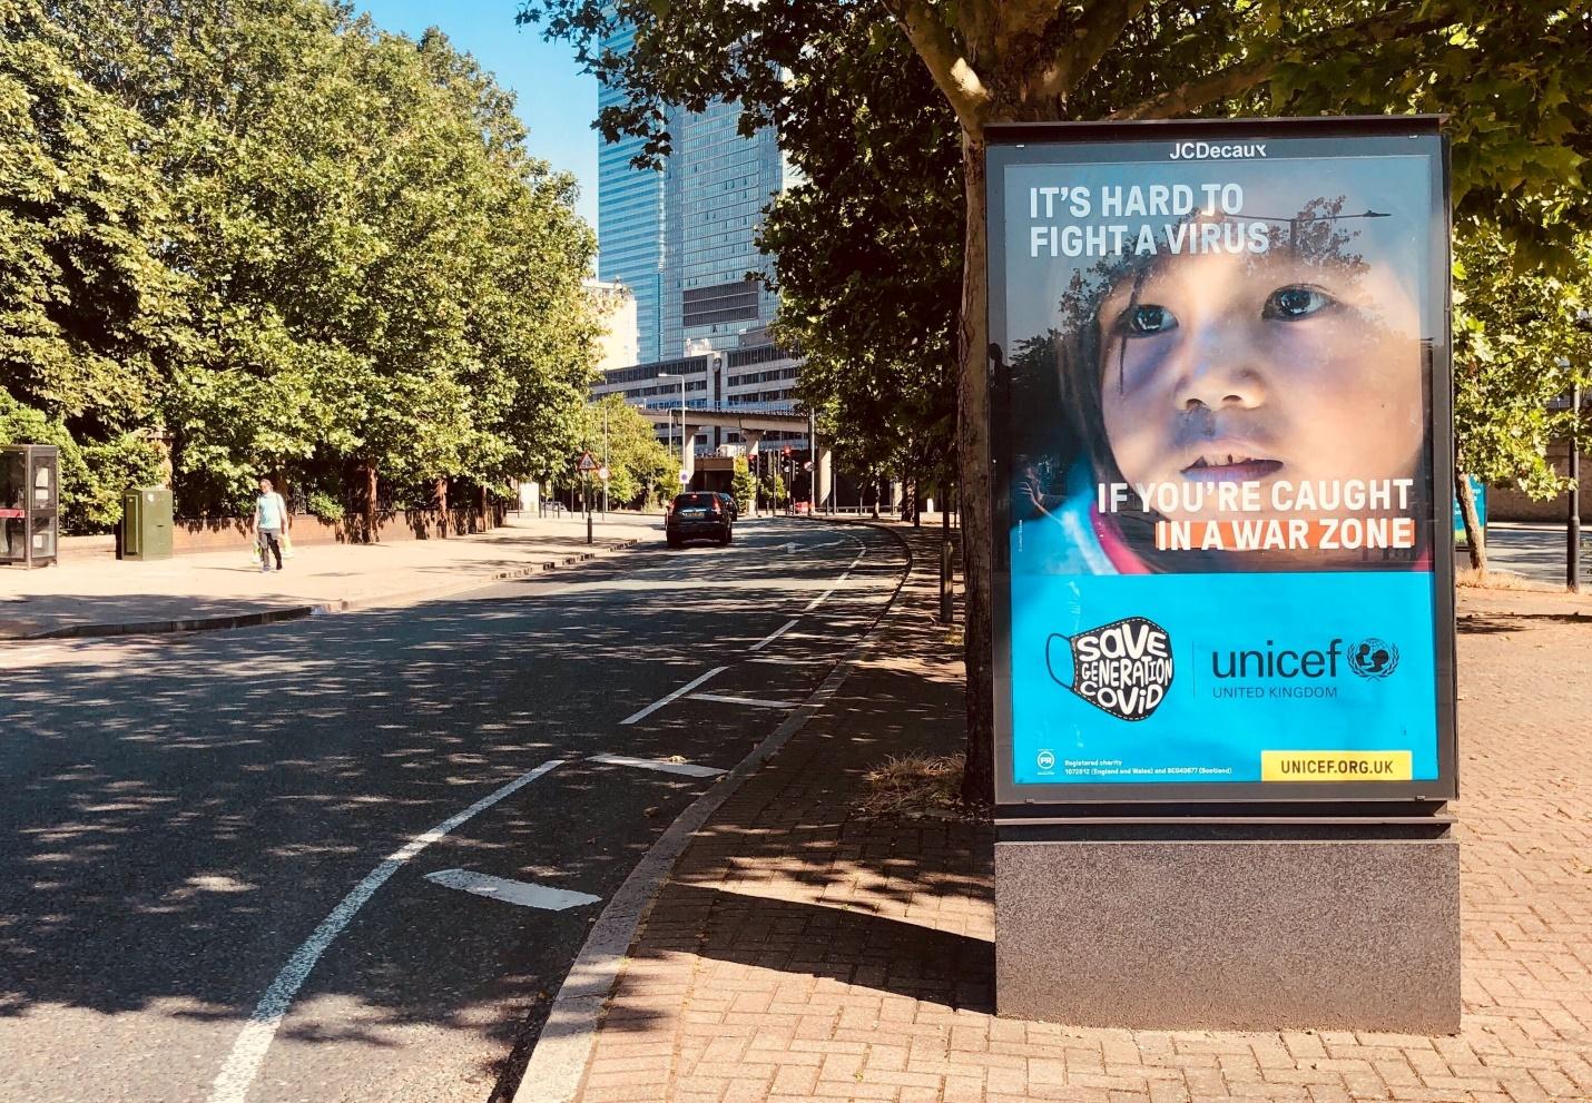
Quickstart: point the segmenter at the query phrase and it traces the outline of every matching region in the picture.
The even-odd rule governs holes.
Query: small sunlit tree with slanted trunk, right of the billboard
[[[1485,532],[1468,474],[1509,481],[1533,498],[1559,493],[1563,479],[1547,458],[1570,438],[1570,409],[1554,412],[1571,384],[1592,382],[1592,245],[1568,272],[1519,256],[1496,231],[1477,226],[1460,240],[1453,290],[1455,489],[1471,567],[1487,570]]]

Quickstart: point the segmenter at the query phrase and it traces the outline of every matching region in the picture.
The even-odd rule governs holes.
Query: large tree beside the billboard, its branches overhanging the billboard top
[[[869,64],[847,19],[890,19],[927,67],[960,127],[963,280],[958,312],[957,454],[966,568],[968,769],[965,794],[992,793],[989,325],[985,314],[985,129],[997,123],[1452,111],[1461,220],[1495,218],[1522,250],[1573,240],[1587,216],[1586,154],[1592,33],[1581,8],[1468,2],[1183,5],[966,0],[721,5],[710,0],[524,0],[522,21],[572,40],[629,102],[600,119],[605,137],[646,137],[665,153],[664,103],[700,110],[740,99],[743,127],[801,110],[802,75],[849,86]],[[607,53],[621,22],[634,46]],[[871,40],[874,41],[874,40]],[[823,45],[845,43],[844,53]],[[928,105],[923,105],[925,108]]]

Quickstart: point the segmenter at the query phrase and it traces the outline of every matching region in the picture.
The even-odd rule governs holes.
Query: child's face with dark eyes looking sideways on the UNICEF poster
[[[1130,298],[1124,282],[1100,309],[1103,420],[1129,482],[1415,473],[1420,317],[1387,266],[1188,256]]]

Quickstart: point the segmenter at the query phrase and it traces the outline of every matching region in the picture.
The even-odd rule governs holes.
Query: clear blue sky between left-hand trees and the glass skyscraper
[[[597,228],[597,81],[579,72],[567,43],[546,43],[537,27],[516,27],[516,0],[355,0],[377,25],[409,37],[441,27],[454,46],[519,99],[530,151],[581,181],[576,210]]]

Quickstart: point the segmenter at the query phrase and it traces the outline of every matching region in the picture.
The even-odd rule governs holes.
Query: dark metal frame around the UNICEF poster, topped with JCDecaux
[[[1453,498],[1453,376],[1452,376],[1452,294],[1450,294],[1450,210],[1449,143],[1441,131],[1442,116],[1360,116],[1302,119],[1173,119],[1143,123],[1022,123],[990,126],[985,132],[989,247],[989,326],[1006,339],[1006,239],[1005,173],[1008,167],[1065,162],[1057,153],[1083,143],[1122,143],[1124,150],[1148,154],[1164,143],[1219,138],[1293,143],[1309,140],[1315,156],[1355,153],[1366,156],[1372,146],[1391,153],[1399,140],[1420,142],[1430,154],[1434,221],[1430,234],[1431,256],[1426,309],[1439,318],[1428,344],[1431,414],[1433,509],[1442,524],[1433,525],[1433,616],[1434,616],[1434,697],[1438,708],[1438,778],[1425,781],[1221,781],[1221,783],[1016,783],[1013,772],[1011,705],[1011,560],[1009,560],[1009,439],[1003,433],[998,396],[1006,385],[1001,360],[990,364],[990,479],[993,543],[993,681],[995,681],[995,802],[997,823],[1076,824],[1076,823],[1422,823],[1458,796],[1455,729],[1455,621],[1453,621],[1453,532],[1449,509]],[[1297,153],[1297,150],[1296,150]],[[1151,156],[1132,159],[1149,161]],[[998,352],[997,344],[990,345]],[[1197,578],[1197,576],[1191,576]]]

